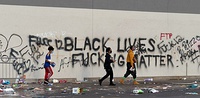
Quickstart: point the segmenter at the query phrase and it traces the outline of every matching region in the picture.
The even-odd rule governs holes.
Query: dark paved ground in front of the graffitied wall
[[[52,86],[44,86],[38,83],[11,84],[15,94],[1,92],[2,98],[200,98],[200,88],[191,88],[194,81],[198,80],[166,80],[166,81],[140,81],[139,85],[132,85],[127,80],[124,85],[116,83],[116,86],[108,86],[104,82],[99,86],[97,81],[82,83],[54,83]],[[197,83],[200,85],[200,83]],[[83,88],[81,94],[72,94],[75,87]],[[149,93],[148,88],[158,90],[158,93]],[[134,89],[142,89],[143,94],[134,94]],[[192,94],[193,93],[193,94]],[[198,93],[196,95],[195,93]]]

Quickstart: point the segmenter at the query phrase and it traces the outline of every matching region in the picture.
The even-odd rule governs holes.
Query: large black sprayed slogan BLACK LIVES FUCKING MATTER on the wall
[[[84,43],[84,48],[77,48],[76,46],[76,40],[77,38],[74,38],[75,41],[73,41],[72,38],[65,38],[65,40],[69,40],[68,44],[69,46],[64,46],[64,47],[68,47],[67,51],[72,51],[72,50],[76,50],[76,51],[83,51],[85,50],[85,47],[88,46],[88,49],[89,50],[95,50],[97,51],[97,49],[99,50],[100,49],[100,46],[97,46],[97,48],[92,48],[93,45],[90,45],[90,40],[88,37],[86,37],[85,39],[85,43]],[[97,38],[95,39],[96,41],[98,42],[101,42],[100,39],[97,40]],[[95,43],[95,40],[93,39],[93,43]],[[104,40],[104,38],[102,38],[102,40]],[[106,43],[107,43],[108,39],[106,41],[102,41],[102,42],[105,42],[103,43],[102,45],[104,45],[106,47]],[[141,54],[144,54],[144,53],[147,53],[147,52],[154,52],[155,51],[155,40],[150,38],[150,39],[147,39],[147,38],[139,38],[138,39],[138,42],[137,39],[134,39],[133,42],[131,40],[131,38],[125,38],[123,41],[122,41],[122,44],[121,44],[121,39],[118,38],[118,41],[117,41],[117,51],[118,52],[126,52],[127,49],[129,48],[130,45],[135,45],[137,43],[137,46],[138,46],[138,49],[139,49],[139,53],[140,55]],[[63,45],[66,45],[66,42],[63,43],[62,40],[55,40],[56,43],[59,43],[59,45],[63,46]],[[145,43],[148,43],[150,47],[146,47],[146,44]],[[70,44],[69,44],[70,43]],[[74,44],[72,44],[74,43]],[[124,45],[121,47],[121,45]],[[66,49],[64,47],[57,47],[58,49],[63,49],[66,51]],[[90,52],[87,52],[87,53],[75,53],[75,54],[72,54],[71,56],[69,57],[64,57],[63,59],[61,59],[61,62],[60,62],[60,67],[59,67],[59,72],[61,69],[64,68],[64,66],[68,67],[70,64],[72,65],[72,67],[77,63],[79,62],[80,65],[83,65],[83,66],[88,66],[89,64],[91,65],[101,65],[103,64],[104,60],[103,60],[103,57],[104,57],[104,53],[90,53]],[[116,55],[116,54],[113,54],[113,57],[115,60],[117,60],[117,65],[118,66],[124,66],[126,61],[125,61],[125,56],[120,54],[120,55]],[[139,60],[138,60],[138,67],[141,68],[142,65],[145,66],[145,68],[147,68],[148,66],[151,65],[151,61],[154,61],[154,64],[152,65],[159,65],[160,66],[173,66],[173,61],[172,61],[172,56],[170,54],[167,54],[167,55],[141,55],[139,56]],[[113,65],[115,66],[115,65]]]

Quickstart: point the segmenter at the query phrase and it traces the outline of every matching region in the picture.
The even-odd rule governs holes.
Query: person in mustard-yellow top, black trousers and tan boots
[[[126,62],[127,62],[127,69],[126,69],[126,73],[124,74],[124,77],[122,77],[122,79],[120,79],[120,83],[124,84],[124,80],[131,74],[133,76],[133,84],[137,85],[139,84],[136,81],[136,59],[134,57],[134,53],[133,51],[135,50],[134,46],[130,46],[130,49],[128,50],[128,54],[127,54],[127,58],[126,58]]]

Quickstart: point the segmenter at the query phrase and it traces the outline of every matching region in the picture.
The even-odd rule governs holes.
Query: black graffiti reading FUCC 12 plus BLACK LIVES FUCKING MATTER
[[[78,45],[78,39],[77,37],[71,38],[71,37],[64,37],[64,41],[60,39],[55,39],[55,45],[58,50],[64,50],[64,51],[99,51],[100,49],[102,51],[105,50],[106,43],[108,42],[109,38],[105,40],[104,37],[101,39],[99,38],[94,38],[90,40],[88,37],[85,38],[84,44],[83,45]],[[136,42],[137,39],[134,39],[133,42],[131,38],[126,38],[124,39],[124,42],[121,44],[121,39],[118,38],[117,41],[117,52],[126,52],[127,49],[129,48],[130,45],[135,45],[137,43],[139,53],[143,54],[148,52],[153,52],[155,51],[155,40],[150,38],[139,38],[138,42]],[[150,47],[146,48],[146,42],[149,43]],[[48,39],[48,38],[40,38],[36,36],[29,36],[29,45],[32,43],[38,44],[38,45],[45,45],[48,46],[50,45],[49,43],[53,42],[53,40]],[[123,48],[120,47],[120,45],[124,45]],[[80,47],[82,46],[82,47]],[[101,65],[103,63],[103,57],[104,53],[100,52],[87,52],[87,53],[74,53],[69,57],[64,57],[61,59],[60,62],[60,68],[58,71],[61,70],[61,68],[64,67],[64,65],[69,66],[69,63],[72,64],[72,67],[79,62],[80,65],[82,66],[89,66],[90,64],[92,65]],[[125,56],[124,55],[119,55],[116,57],[116,54],[113,55],[114,59],[117,60],[117,65],[119,66],[124,66],[125,65]],[[68,58],[68,61],[66,61]],[[147,59],[145,59],[147,58]],[[155,66],[157,66],[157,63],[159,62],[161,66],[169,66],[170,64],[173,66],[172,62],[172,56],[171,55],[146,55],[146,56],[141,56],[138,63],[139,67],[144,64],[144,66],[147,68],[150,66],[150,61],[154,59],[155,61]],[[96,61],[95,61],[96,60]],[[167,62],[166,64],[164,62]],[[114,65],[113,65],[114,66]]]

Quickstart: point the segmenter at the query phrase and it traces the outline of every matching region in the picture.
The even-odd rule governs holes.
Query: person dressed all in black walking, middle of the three
[[[115,86],[116,84],[113,83],[113,70],[110,66],[111,63],[114,63],[115,60],[111,59],[110,54],[112,53],[112,49],[110,47],[106,48],[106,56],[104,62],[104,69],[106,71],[106,75],[99,80],[99,85],[102,85],[102,82],[110,76],[110,86]]]

